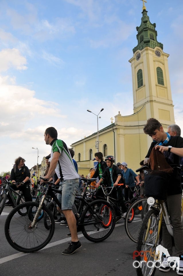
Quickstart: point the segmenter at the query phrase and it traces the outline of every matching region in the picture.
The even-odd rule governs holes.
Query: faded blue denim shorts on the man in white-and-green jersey
[[[58,193],[57,198],[62,204],[62,210],[72,210],[78,187],[79,178],[60,182],[59,190],[62,194]]]

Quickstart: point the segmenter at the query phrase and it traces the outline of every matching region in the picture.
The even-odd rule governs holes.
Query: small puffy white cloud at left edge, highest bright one
[[[26,70],[26,58],[20,54],[18,49],[3,49],[0,51],[0,72],[7,71],[9,68]]]

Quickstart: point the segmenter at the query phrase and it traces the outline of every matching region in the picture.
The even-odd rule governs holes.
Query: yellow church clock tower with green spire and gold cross
[[[129,60],[133,80],[134,113],[145,105],[146,118],[156,118],[163,124],[174,123],[167,53],[163,44],[157,41],[156,24],[147,16],[143,1],[141,25],[137,27],[138,44],[133,48],[133,57]],[[145,1],[146,2],[146,1]]]

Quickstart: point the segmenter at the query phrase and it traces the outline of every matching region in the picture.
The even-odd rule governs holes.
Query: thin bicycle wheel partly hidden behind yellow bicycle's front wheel
[[[135,212],[135,210],[138,210],[138,212]],[[124,220],[126,234],[134,242],[137,242],[139,229],[146,212],[147,198],[136,200],[126,212]]]

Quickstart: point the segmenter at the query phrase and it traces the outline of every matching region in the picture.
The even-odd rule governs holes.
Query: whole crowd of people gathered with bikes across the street
[[[170,125],[168,131],[165,132],[159,121],[154,118],[147,120],[144,127],[144,133],[149,135],[153,142],[148,150],[145,159],[140,162],[140,166],[149,166],[149,157],[152,149],[159,150],[164,154],[166,162],[168,164],[180,165],[183,157],[183,139],[180,136],[180,127],[177,125]],[[103,158],[102,152],[95,153],[95,160],[98,162],[96,168],[90,168],[88,175],[78,174],[77,162],[73,159],[74,151],[68,149],[65,142],[57,138],[57,130],[54,127],[48,127],[44,133],[44,140],[47,145],[51,146],[51,153],[46,156],[47,169],[44,175],[45,179],[53,180],[55,185],[59,185],[59,190],[62,194],[58,194],[58,199],[61,202],[62,209],[57,207],[61,213],[61,218],[55,221],[61,223],[61,225],[68,225],[69,235],[71,236],[71,244],[65,249],[62,254],[73,254],[81,247],[81,243],[77,235],[76,219],[73,212],[75,195],[81,189],[83,184],[82,178],[85,179],[97,179],[93,181],[90,186],[90,190],[96,189],[96,198],[101,198],[102,189],[100,185],[106,187],[114,186],[113,197],[118,199],[121,204],[123,212],[122,217],[126,214],[125,200],[133,198],[133,192],[136,187],[139,187],[141,197],[144,196],[144,178],[143,174],[137,175],[128,164],[123,162],[117,162],[115,165],[115,158],[112,155],[108,155]],[[104,160],[105,159],[105,160]],[[23,192],[26,201],[32,201],[30,195],[30,172],[28,167],[24,164],[25,160],[19,157],[15,160],[15,165],[11,170],[11,174],[6,174],[6,179],[10,178],[13,189],[21,190]],[[179,169],[173,171],[170,176],[170,185],[168,186],[168,209],[170,214],[170,220],[174,229],[174,243],[176,256],[179,256],[183,260],[183,228],[181,221],[181,200],[182,200],[182,187],[181,187],[181,172]],[[32,175],[33,187],[36,186],[37,180],[35,175]],[[16,183],[19,183],[18,185]],[[123,187],[118,183],[124,183]],[[7,204],[11,204],[10,199]],[[65,218],[65,220],[63,220]],[[62,220],[61,220],[62,219]],[[170,255],[172,251],[172,237],[166,229],[166,225],[163,223],[163,246],[168,249]],[[166,260],[166,256],[164,257]],[[160,267],[161,271],[169,271],[170,267]],[[183,266],[179,269],[179,275],[183,275]]]

